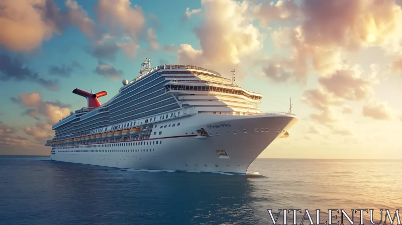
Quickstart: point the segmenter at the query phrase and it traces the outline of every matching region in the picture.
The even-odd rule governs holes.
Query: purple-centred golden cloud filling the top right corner
[[[309,0],[300,8],[307,43],[356,50],[382,46],[400,35],[402,12],[392,0]]]

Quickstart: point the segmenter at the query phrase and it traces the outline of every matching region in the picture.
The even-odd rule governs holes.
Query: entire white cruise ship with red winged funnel
[[[107,103],[106,91],[72,92],[87,100],[52,126],[55,161],[147,170],[245,174],[269,144],[290,137],[289,111],[263,113],[261,94],[193,65],[141,64]]]

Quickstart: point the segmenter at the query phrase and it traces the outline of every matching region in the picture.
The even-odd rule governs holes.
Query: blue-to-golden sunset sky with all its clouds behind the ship
[[[3,0],[0,154],[49,155],[51,125],[141,62],[190,64],[287,111],[261,158],[402,159],[402,1]]]

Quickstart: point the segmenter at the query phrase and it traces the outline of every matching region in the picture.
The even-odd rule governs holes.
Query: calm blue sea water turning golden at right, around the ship
[[[257,159],[247,175],[225,175],[0,156],[0,224],[272,224],[267,209],[394,212],[401,178],[396,160]]]

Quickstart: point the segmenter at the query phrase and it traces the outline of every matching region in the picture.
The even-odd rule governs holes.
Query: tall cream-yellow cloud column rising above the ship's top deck
[[[230,71],[240,67],[241,58],[254,56],[262,48],[262,35],[247,14],[247,1],[203,0],[201,4],[205,21],[194,29],[200,49],[181,44],[177,51],[179,63]]]

